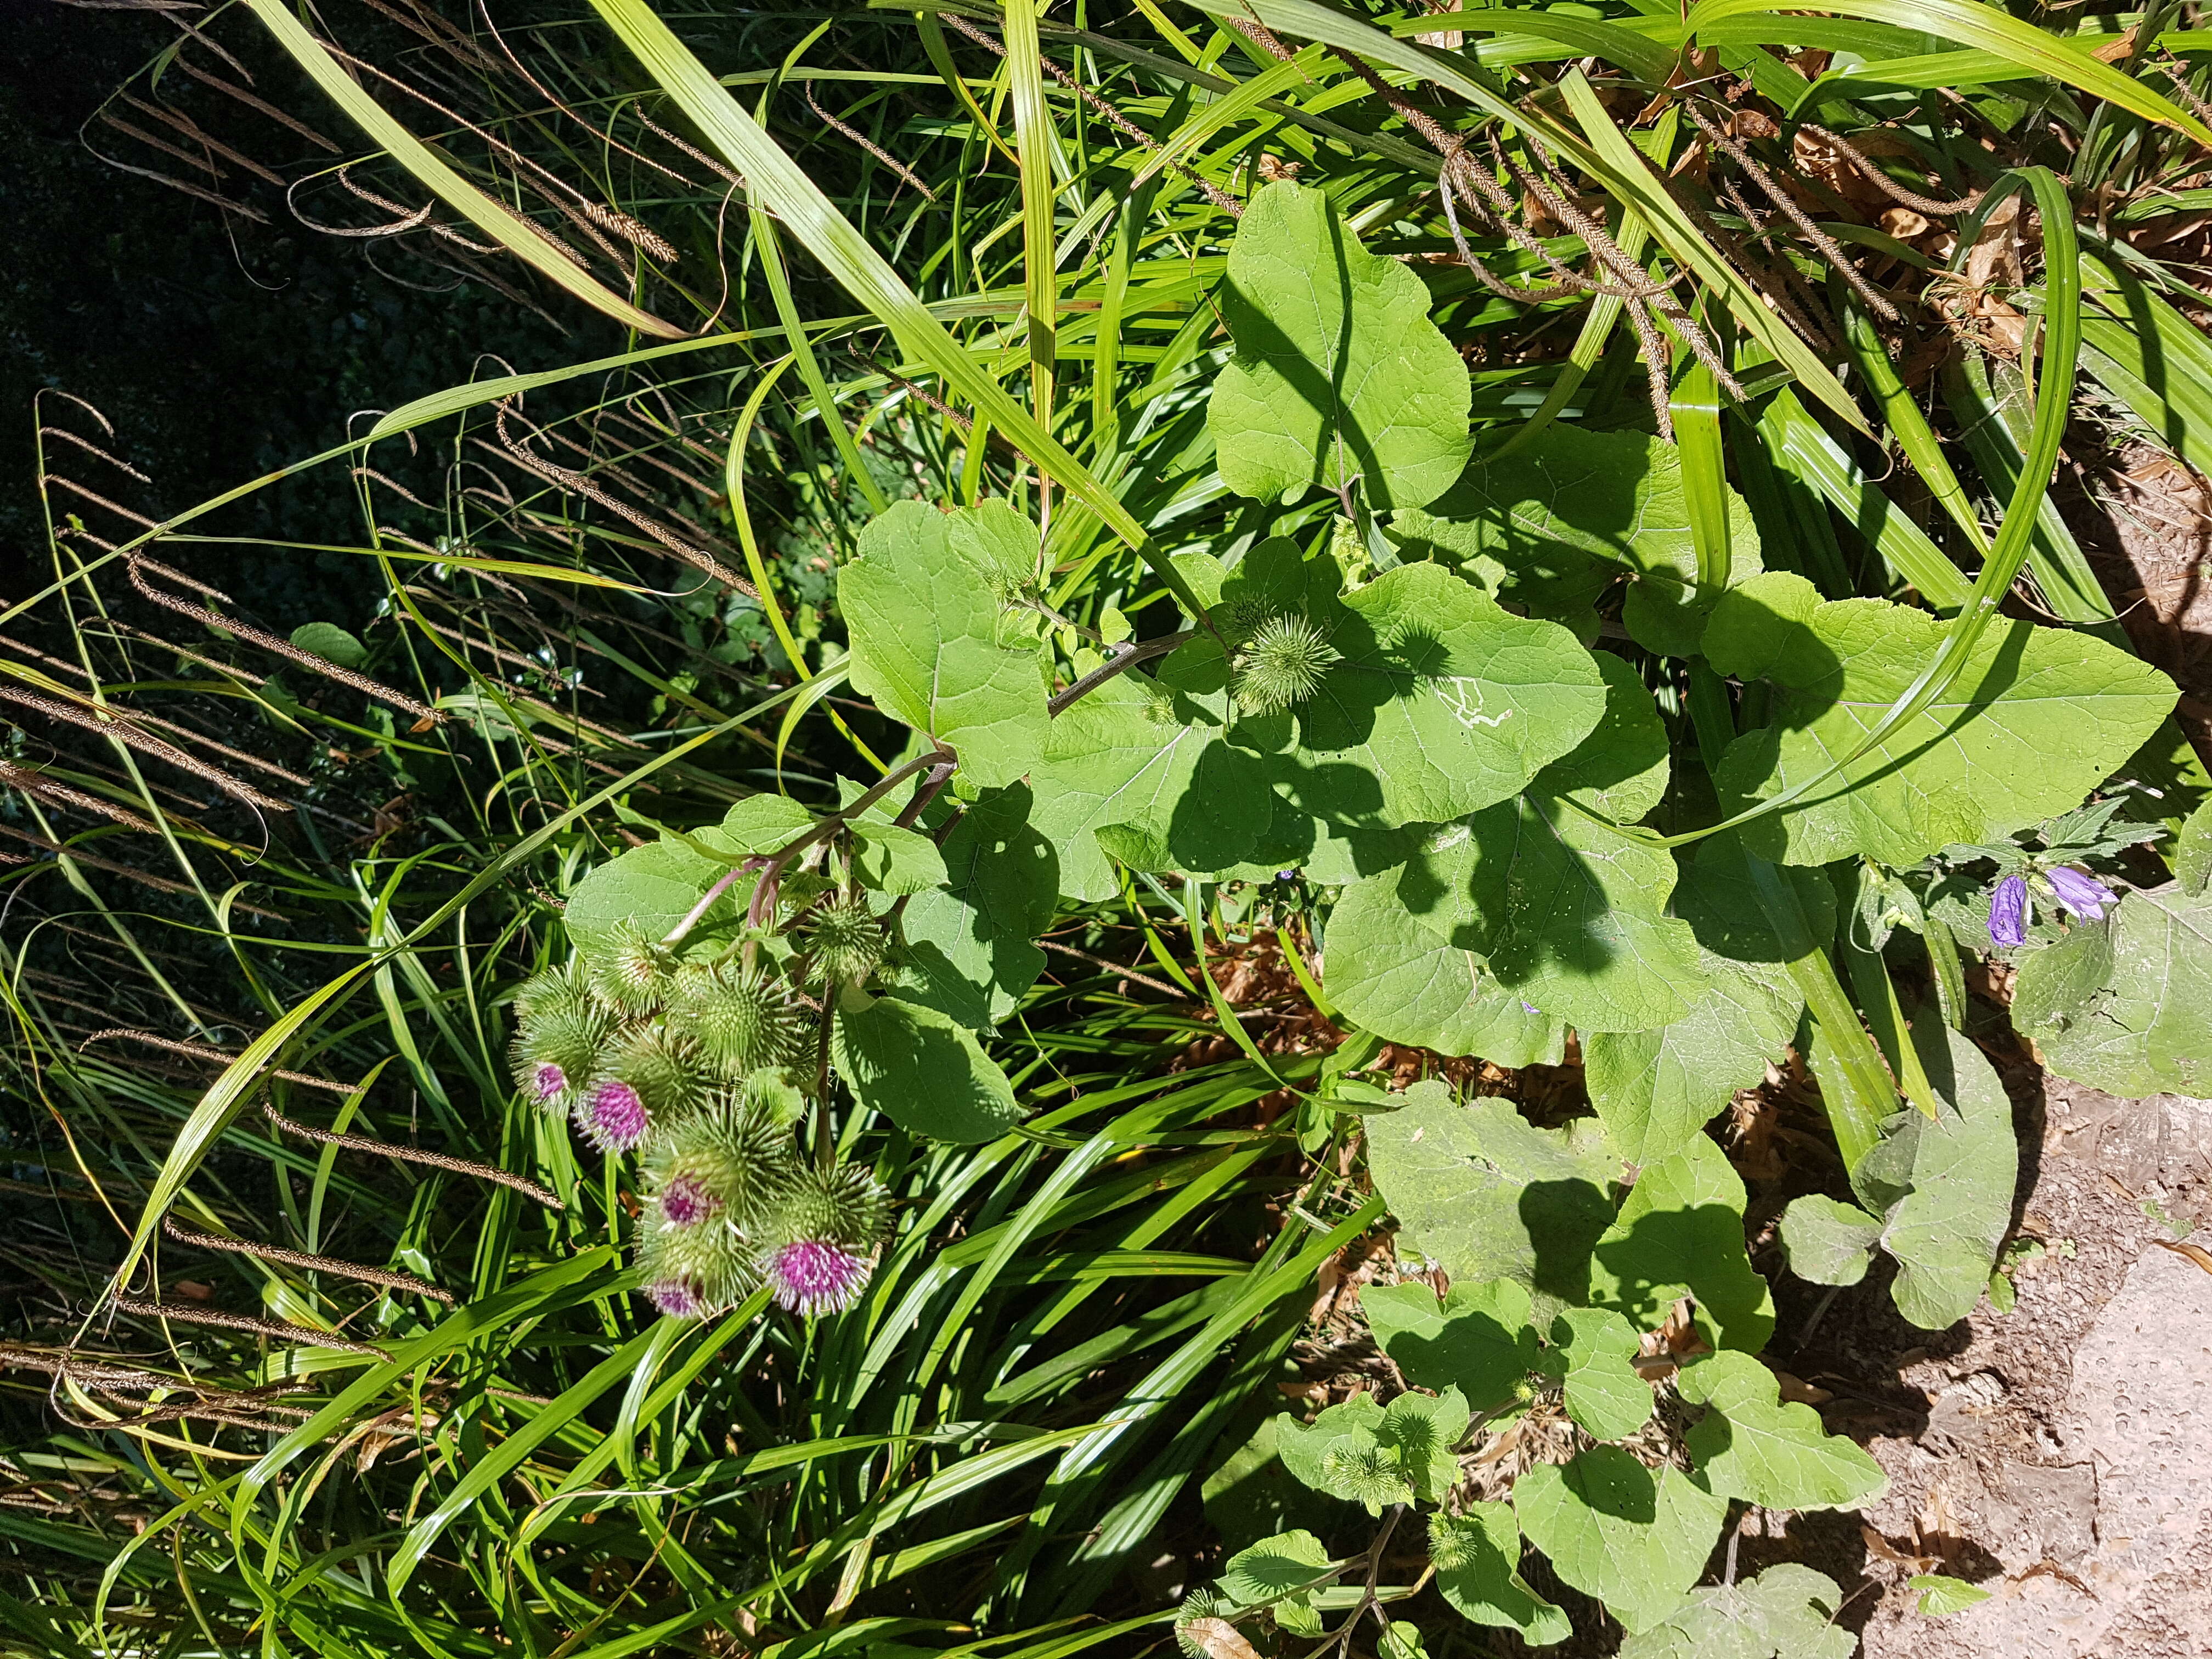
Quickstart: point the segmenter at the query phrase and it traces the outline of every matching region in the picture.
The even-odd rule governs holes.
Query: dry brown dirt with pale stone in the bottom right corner
[[[1825,1310],[1785,1294],[1772,1356],[1891,1486],[1860,1515],[1754,1515],[1743,1566],[1836,1577],[1867,1659],[2212,1655],[2212,1270],[2170,1248],[2212,1221],[2212,1102],[2024,1071],[2017,1221],[2042,1254],[2017,1305],[1929,1334],[1871,1276]],[[1929,1619],[1920,1571],[1993,1595]]]

